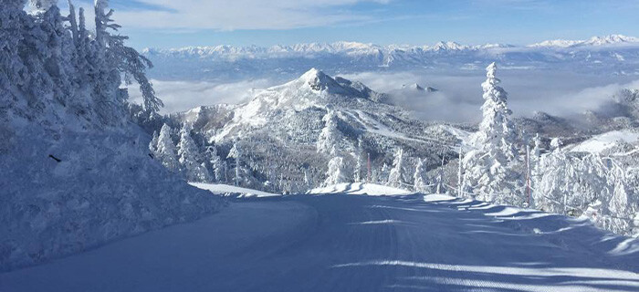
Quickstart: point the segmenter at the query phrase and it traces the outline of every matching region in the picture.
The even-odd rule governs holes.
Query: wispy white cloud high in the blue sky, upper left
[[[291,29],[367,21],[350,9],[391,0],[138,0],[144,9],[122,7],[115,19],[125,27],[180,29]]]

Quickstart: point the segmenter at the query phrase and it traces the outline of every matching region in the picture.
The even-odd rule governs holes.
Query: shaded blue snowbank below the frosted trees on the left
[[[0,271],[194,221],[224,205],[153,160],[148,139],[132,125],[67,130],[57,139],[37,125],[16,130],[0,151]]]

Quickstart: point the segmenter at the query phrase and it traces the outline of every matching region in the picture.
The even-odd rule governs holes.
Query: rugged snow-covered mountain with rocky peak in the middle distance
[[[419,157],[434,168],[443,156],[456,157],[454,134],[440,123],[412,119],[383,97],[360,82],[313,68],[283,85],[255,91],[244,104],[199,107],[173,114],[169,122],[186,123],[203,146],[214,146],[223,158],[231,148],[246,150],[229,163],[239,161],[242,172],[249,172],[246,186],[264,191],[299,193],[324,181],[332,154],[321,151],[319,143],[329,123],[336,127],[330,137],[349,177],[366,177],[365,167],[355,165],[368,155],[372,171],[380,172],[383,164],[392,164],[398,148],[412,157],[406,165]]]

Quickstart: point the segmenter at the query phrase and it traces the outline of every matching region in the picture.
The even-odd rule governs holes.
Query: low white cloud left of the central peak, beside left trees
[[[273,82],[267,78],[233,83],[152,80],[153,89],[164,101],[162,113],[191,110],[198,106],[218,103],[241,103],[250,99],[252,89],[267,88],[274,85]],[[141,103],[141,94],[137,86],[131,86],[129,94],[132,102]]]

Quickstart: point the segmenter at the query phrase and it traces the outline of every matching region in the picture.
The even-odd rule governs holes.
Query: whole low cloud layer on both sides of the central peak
[[[486,78],[479,70],[471,72],[363,72],[341,77],[358,80],[379,92],[389,93],[398,106],[412,110],[421,120],[477,122],[483,103],[480,84]],[[498,72],[508,91],[508,102],[516,116],[530,116],[534,111],[569,117],[585,110],[601,109],[620,89],[639,89],[634,77],[576,75],[566,72],[505,70]],[[241,103],[252,97],[252,89],[266,89],[284,83],[280,78],[256,78],[231,83],[209,81],[152,80],[164,103],[162,113],[190,110],[217,103]],[[403,89],[417,83],[437,92]],[[137,88],[130,89],[131,99],[141,102]]]

